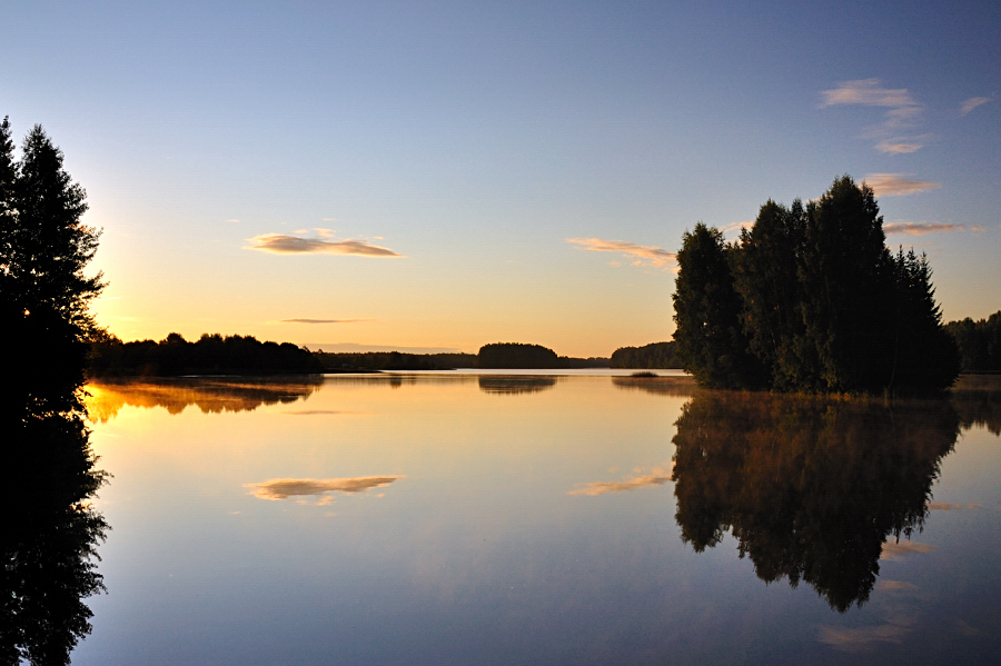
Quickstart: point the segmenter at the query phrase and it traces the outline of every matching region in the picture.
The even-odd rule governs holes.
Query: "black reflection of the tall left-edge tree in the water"
[[[72,398],[67,398],[73,404]],[[0,501],[0,662],[69,664],[90,633],[83,599],[101,592],[97,545],[108,525],[89,504],[103,484],[81,410],[4,410]]]

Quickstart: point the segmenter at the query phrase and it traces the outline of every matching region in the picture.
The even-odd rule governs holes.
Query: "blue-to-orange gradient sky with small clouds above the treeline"
[[[686,229],[844,173],[947,320],[1001,310],[997,0],[3,14],[0,116],[87,190],[123,340],[608,356],[671,338]]]

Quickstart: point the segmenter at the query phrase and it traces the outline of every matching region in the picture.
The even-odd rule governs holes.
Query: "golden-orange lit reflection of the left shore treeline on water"
[[[87,386],[90,419],[105,423],[125,407],[163,407],[180,414],[190,405],[202,414],[252,411],[261,405],[306,399],[323,385],[321,377],[295,379],[181,378],[156,380],[100,380]]]

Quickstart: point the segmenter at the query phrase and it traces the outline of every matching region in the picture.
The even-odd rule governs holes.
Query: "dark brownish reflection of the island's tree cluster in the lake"
[[[682,539],[701,553],[730,531],[762,580],[805,580],[843,613],[886,538],[922,529],[960,417],[948,400],[701,391],[675,425]]]

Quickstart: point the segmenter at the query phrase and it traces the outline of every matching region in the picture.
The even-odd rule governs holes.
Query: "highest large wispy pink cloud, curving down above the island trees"
[[[894,133],[915,127],[924,107],[919,103],[906,88],[883,88],[879,79],[861,79],[844,81],[838,88],[821,91],[821,107],[839,105],[858,105],[863,107],[881,107],[886,109],[881,126],[874,129],[880,142],[875,149],[890,155],[915,152],[924,147],[928,136],[894,137]]]

